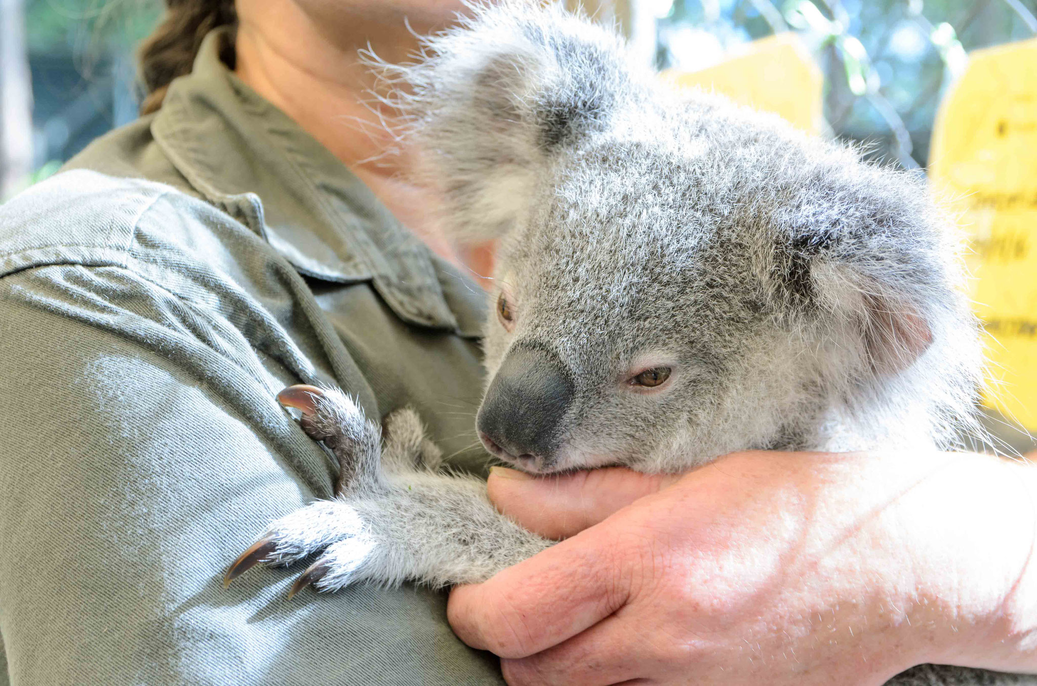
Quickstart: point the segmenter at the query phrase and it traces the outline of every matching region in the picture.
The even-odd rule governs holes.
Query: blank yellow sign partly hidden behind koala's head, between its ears
[[[739,105],[775,112],[797,128],[819,134],[824,79],[800,37],[787,31],[754,40],[720,64],[698,72],[664,72],[677,86],[699,86]]]

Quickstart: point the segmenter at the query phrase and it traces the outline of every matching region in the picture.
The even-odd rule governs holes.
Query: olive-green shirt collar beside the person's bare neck
[[[370,280],[401,319],[476,336],[474,318],[465,312],[458,322],[447,306],[439,258],[345,165],[233,75],[220,59],[230,40],[226,29],[205,36],[192,73],[173,81],[151,122],[172,164],[301,274]]]

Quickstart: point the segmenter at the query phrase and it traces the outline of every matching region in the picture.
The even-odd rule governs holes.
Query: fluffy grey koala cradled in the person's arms
[[[472,5],[387,68],[450,230],[497,240],[476,429],[502,462],[677,473],[978,431],[978,326],[923,178],[676,92],[555,7]],[[228,583],[314,554],[291,593],[478,582],[552,544],[440,469],[414,411],[383,435],[340,390],[279,400],[338,458],[338,495],[270,524]],[[919,667],[897,683],[1019,683],[993,679]]]

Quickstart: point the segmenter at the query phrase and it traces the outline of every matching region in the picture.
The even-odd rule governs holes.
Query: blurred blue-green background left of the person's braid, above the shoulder
[[[137,116],[134,50],[162,3],[0,0],[0,197]]]

